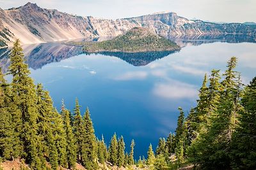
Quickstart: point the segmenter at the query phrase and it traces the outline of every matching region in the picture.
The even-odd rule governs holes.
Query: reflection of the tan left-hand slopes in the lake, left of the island
[[[24,54],[26,63],[33,69],[39,69],[51,62],[60,62],[63,59],[67,59],[74,55],[82,53],[81,46],[67,46],[58,43],[45,43],[36,46],[25,46]],[[10,65],[10,59],[8,55],[10,49],[0,49],[0,63],[5,73]]]

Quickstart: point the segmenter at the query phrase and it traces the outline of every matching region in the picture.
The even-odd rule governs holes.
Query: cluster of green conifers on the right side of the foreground
[[[162,165],[256,169],[256,77],[244,88],[236,64],[232,57],[223,77],[220,70],[205,74],[188,117],[179,108],[175,134],[160,138],[156,149]]]

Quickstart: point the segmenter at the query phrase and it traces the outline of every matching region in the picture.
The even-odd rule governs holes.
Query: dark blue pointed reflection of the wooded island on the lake
[[[167,55],[175,52],[138,52],[138,53],[127,53],[127,52],[99,52],[102,55],[114,56],[119,59],[125,60],[133,66],[146,66],[154,60],[162,59]],[[90,55],[90,53],[86,53]]]

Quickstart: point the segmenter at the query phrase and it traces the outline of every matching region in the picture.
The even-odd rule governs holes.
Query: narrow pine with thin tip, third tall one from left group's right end
[[[63,117],[63,124],[64,124],[64,129],[65,129],[65,137],[67,141],[67,149],[66,149],[66,154],[67,154],[67,164],[68,168],[72,168],[76,164],[76,145],[75,145],[75,138],[74,134],[72,132],[72,127],[70,125],[70,111],[68,111],[65,108],[64,103],[62,103],[62,108],[61,108],[61,115]]]

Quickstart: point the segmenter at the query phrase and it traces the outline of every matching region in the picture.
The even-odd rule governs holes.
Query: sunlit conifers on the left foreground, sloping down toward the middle
[[[35,85],[19,40],[10,54],[8,74],[4,80],[0,69],[0,157],[1,161],[24,159],[31,169],[99,169],[106,162],[113,166],[134,164],[134,140],[131,152],[125,153],[124,138],[113,135],[110,145],[95,137],[90,111],[81,116],[79,102],[73,111],[62,103],[58,113],[49,92]],[[50,164],[51,166],[47,166]],[[102,167],[101,167],[102,168]]]

